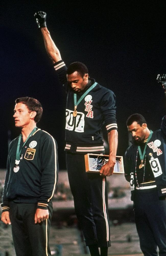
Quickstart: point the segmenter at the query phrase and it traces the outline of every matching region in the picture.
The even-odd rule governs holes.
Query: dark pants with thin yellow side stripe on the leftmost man
[[[49,232],[52,203],[49,203],[49,219],[34,223],[37,204],[10,202],[10,220],[17,256],[51,256]]]

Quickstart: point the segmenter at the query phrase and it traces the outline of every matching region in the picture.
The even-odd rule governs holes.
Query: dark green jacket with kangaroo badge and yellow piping
[[[37,129],[22,148],[19,170],[15,173],[17,144],[18,137],[9,145],[2,212],[9,211],[9,201],[37,203],[37,208],[46,209],[58,178],[56,141],[49,133]],[[20,148],[22,145],[23,141]]]

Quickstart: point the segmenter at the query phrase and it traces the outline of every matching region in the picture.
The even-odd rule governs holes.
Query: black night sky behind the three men
[[[65,93],[46,54],[33,14],[47,13],[47,26],[66,64],[81,61],[90,77],[116,95],[118,152],[128,146],[126,119],[145,116],[150,129],[160,128],[165,96],[158,73],[166,72],[166,1],[3,1],[1,9],[1,152],[6,167],[8,130],[14,126],[14,101],[37,98],[43,106],[38,127],[58,143],[60,168],[65,168]]]

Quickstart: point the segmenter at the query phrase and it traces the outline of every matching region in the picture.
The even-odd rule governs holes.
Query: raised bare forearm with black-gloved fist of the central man
[[[60,61],[62,59],[60,51],[54,44],[54,41],[52,40],[50,32],[48,31],[46,26],[46,13],[38,11],[37,13],[34,14],[34,17],[36,18],[38,27],[41,29],[47,54],[52,59],[53,63]]]

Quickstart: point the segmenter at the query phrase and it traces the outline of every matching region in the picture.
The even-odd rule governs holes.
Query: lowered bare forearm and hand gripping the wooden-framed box
[[[102,166],[100,175],[110,176],[113,173],[114,165],[116,163],[116,151],[117,151],[118,134],[117,130],[111,130],[108,133],[109,143],[109,160]]]

